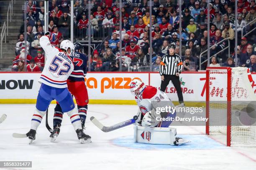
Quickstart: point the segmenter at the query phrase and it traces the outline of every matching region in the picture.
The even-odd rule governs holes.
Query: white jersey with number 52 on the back
[[[67,78],[74,70],[71,57],[58,47],[52,46],[46,36],[40,38],[40,45],[46,53],[47,60],[39,82],[51,87],[67,87]]]

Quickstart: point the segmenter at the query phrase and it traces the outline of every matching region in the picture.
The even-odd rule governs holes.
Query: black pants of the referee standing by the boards
[[[172,84],[176,88],[178,98],[179,98],[179,103],[184,102],[183,101],[183,95],[182,95],[182,89],[180,86],[180,81],[179,77],[176,75],[164,75],[164,81],[161,81],[161,88],[160,90],[162,92],[165,92],[167,85],[169,84],[170,80],[172,81]]]

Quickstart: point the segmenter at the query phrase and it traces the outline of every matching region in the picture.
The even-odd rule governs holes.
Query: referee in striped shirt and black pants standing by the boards
[[[179,103],[184,104],[182,89],[179,81],[179,74],[182,71],[183,63],[179,55],[174,53],[175,45],[171,44],[168,46],[168,53],[162,57],[160,64],[160,75],[161,75],[161,88],[164,92],[170,80],[177,90]]]

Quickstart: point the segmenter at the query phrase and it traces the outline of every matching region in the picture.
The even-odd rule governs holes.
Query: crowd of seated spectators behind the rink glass
[[[89,29],[91,40],[102,40],[92,52],[89,71],[118,71],[119,62],[122,62],[123,71],[143,71],[151,67],[153,71],[158,72],[161,57],[168,52],[168,45],[171,43],[176,45],[175,53],[178,55],[181,48],[184,71],[198,70],[199,57],[204,62],[201,65],[202,69],[205,69],[209,35],[210,66],[234,67],[236,63],[238,66],[250,68],[251,72],[256,72],[256,64],[254,64],[256,30],[253,30],[256,28],[255,0],[238,0],[237,9],[235,9],[235,0],[210,0],[210,32],[207,32],[207,0],[183,0],[182,9],[179,9],[177,0],[152,0],[151,18],[149,0],[122,0],[122,2],[123,7],[120,9],[119,0],[91,0],[91,13],[88,14],[88,0],[74,0],[74,40],[88,40]],[[53,45],[58,46],[61,40],[69,38],[70,7],[69,0],[49,1],[49,23],[44,25],[44,1],[28,0],[27,32],[24,32],[24,25],[21,25],[13,70],[20,70],[24,65],[20,59],[23,59],[25,50],[29,54],[26,61],[28,67],[31,70],[38,70],[35,65],[39,69],[43,68],[44,55],[39,39],[44,35],[44,27],[56,35]],[[119,15],[120,10],[122,16]],[[179,16],[180,10],[182,10],[181,16]],[[235,23],[235,10],[238,12],[237,23]],[[88,16],[90,16],[90,28]],[[120,30],[120,20],[122,30]],[[150,21],[152,30],[150,30]],[[182,30],[179,30],[179,24]],[[236,26],[238,37],[235,37]],[[121,40],[120,34],[122,34]],[[179,38],[182,39],[181,44]],[[234,53],[236,38],[238,60],[235,60]],[[150,43],[152,58],[150,58]],[[226,48],[229,44],[230,54]],[[149,65],[150,60],[152,65]]]

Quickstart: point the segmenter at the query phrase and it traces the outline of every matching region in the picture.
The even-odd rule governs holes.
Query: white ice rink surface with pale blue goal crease
[[[49,107],[49,124],[55,105]],[[92,143],[80,144],[67,115],[55,143],[45,127],[45,118],[28,145],[27,133],[35,105],[0,105],[0,161],[32,161],[33,170],[256,170],[256,147],[226,147],[222,136],[205,136],[204,127],[177,126],[177,136],[192,141],[183,146],[133,143],[133,126],[104,133],[90,122],[95,116],[104,125],[131,119],[136,105],[88,105],[86,134]],[[31,168],[0,168],[31,169]]]

